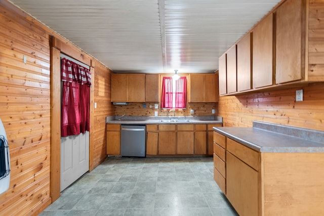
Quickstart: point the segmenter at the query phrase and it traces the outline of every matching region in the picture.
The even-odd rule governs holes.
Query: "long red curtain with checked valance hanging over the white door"
[[[61,80],[61,136],[90,131],[90,70],[63,58]]]

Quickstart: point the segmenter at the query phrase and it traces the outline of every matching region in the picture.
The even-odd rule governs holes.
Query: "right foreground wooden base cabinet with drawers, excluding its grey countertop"
[[[324,153],[257,152],[216,132],[214,142],[214,180],[239,215],[322,215]]]

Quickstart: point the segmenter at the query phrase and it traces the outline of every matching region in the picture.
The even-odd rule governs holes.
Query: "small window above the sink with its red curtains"
[[[187,77],[182,76],[178,80],[172,77],[163,77],[162,83],[162,108],[186,108],[187,103]]]

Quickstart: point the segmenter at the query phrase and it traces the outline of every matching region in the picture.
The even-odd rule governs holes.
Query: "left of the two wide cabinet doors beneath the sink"
[[[158,154],[176,154],[176,132],[158,133]]]

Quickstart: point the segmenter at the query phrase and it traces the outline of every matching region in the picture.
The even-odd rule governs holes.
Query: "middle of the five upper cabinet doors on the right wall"
[[[237,91],[251,89],[251,33],[237,42]]]

